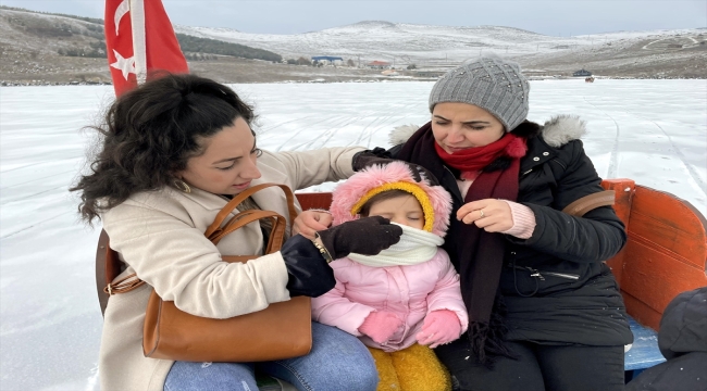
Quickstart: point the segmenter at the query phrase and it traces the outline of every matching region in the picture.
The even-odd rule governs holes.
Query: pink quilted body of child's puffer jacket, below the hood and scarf
[[[369,346],[398,351],[417,342],[424,317],[435,310],[457,314],[462,333],[469,318],[459,290],[459,275],[439,249],[418,265],[371,267],[349,258],[331,263],[336,287],[312,299],[312,319],[357,336]],[[405,330],[379,344],[358,328],[372,311],[388,311],[406,320]]]

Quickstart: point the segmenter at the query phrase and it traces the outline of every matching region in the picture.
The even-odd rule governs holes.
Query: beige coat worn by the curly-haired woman
[[[253,185],[277,182],[293,190],[354,174],[351,159],[360,148],[307,152],[264,152],[262,177]],[[287,216],[280,188],[253,195],[263,210]],[[117,278],[137,273],[147,282],[110,298],[103,323],[99,374],[101,389],[163,390],[172,361],[142,355],[142,320],[152,287],[187,313],[226,318],[289,300],[287,269],[280,253],[246,264],[227,264],[221,253],[258,254],[262,235],[257,224],[239,229],[214,247],[203,232],[226,204],[224,197],[193,189],[141,192],[101,216],[111,248],[129,265]],[[299,205],[298,205],[299,207]]]

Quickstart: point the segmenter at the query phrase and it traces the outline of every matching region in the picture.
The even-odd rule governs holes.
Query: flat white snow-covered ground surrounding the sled
[[[233,86],[260,114],[259,147],[387,147],[423,124],[432,83]],[[112,87],[0,88],[2,390],[97,389],[101,315],[94,285],[100,227],[66,191]],[[530,119],[578,114],[604,178],[669,191],[707,215],[707,81],[532,81]],[[322,186],[328,190],[331,186]]]

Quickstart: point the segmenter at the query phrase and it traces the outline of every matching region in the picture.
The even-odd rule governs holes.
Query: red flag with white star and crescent
[[[106,0],[106,47],[116,96],[154,71],[189,72],[161,0]]]

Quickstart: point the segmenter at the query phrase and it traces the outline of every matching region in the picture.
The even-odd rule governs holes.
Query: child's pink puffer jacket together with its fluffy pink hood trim
[[[415,195],[425,212],[429,231],[444,237],[449,226],[451,195],[442,187],[424,178],[415,181],[402,162],[375,165],[355,174],[337,186],[330,211],[334,225],[359,218],[354,205],[369,191],[390,184],[409,184],[424,195]],[[409,189],[409,188],[408,188]],[[422,198],[423,200],[420,200]],[[423,206],[423,210],[425,207]],[[431,222],[427,222],[430,219]],[[430,260],[415,265],[372,267],[348,257],[331,263],[336,287],[322,297],[312,299],[312,319],[357,336],[369,346],[386,352],[398,351],[417,342],[424,317],[435,310],[457,314],[462,333],[469,319],[459,289],[459,275],[449,262],[449,255],[438,249]],[[387,311],[405,319],[405,330],[379,344],[359,332],[358,328],[373,311]]]

